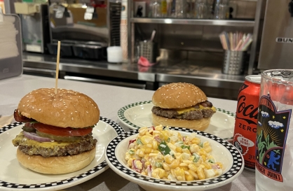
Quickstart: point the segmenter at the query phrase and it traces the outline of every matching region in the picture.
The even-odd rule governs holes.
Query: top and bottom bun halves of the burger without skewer
[[[156,107],[176,111],[176,109],[190,108],[196,104],[207,101],[205,93],[199,87],[190,83],[170,83],[159,87],[152,98]],[[153,125],[170,127],[185,127],[204,131],[210,125],[210,118],[184,120],[165,118],[152,113]]]

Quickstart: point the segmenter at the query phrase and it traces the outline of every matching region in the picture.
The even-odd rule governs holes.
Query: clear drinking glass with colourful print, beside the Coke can
[[[293,70],[261,73],[256,190],[293,190]]]

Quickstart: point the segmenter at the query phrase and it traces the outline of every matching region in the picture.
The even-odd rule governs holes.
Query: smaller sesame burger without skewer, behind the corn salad
[[[190,83],[170,83],[153,95],[151,109],[154,125],[186,127],[204,131],[216,108],[205,93]]]

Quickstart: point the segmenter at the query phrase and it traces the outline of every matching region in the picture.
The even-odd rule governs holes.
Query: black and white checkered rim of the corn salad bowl
[[[170,129],[184,129],[184,131],[186,132],[198,132],[195,130],[191,130],[191,129],[185,129],[185,128],[180,128],[180,127],[171,127]],[[116,155],[114,154],[115,148],[118,145],[118,143],[120,143],[123,139],[126,139],[128,136],[131,136],[133,134],[133,132],[135,132],[137,130],[132,130],[130,132],[125,132],[125,134],[122,134],[120,136],[117,136],[115,139],[113,139],[109,145],[106,148],[106,155],[105,155],[105,159],[107,161],[107,164],[109,165],[109,167],[116,172],[116,174],[118,174],[119,176],[122,176],[123,178],[127,179],[128,181],[132,181],[134,183],[137,183],[139,185],[146,185],[147,187],[154,187],[154,188],[160,188],[161,190],[165,190],[166,189],[166,185],[164,184],[164,182],[172,182],[175,183],[175,181],[163,181],[160,179],[156,179],[156,178],[150,178],[148,176],[143,176],[135,171],[129,170],[129,168],[125,168],[123,166],[123,164],[121,164],[120,162],[118,162],[118,160],[116,159]],[[217,141],[219,143],[222,143],[223,146],[226,146],[227,150],[229,150],[231,152],[231,150],[233,150],[233,154],[237,153],[237,156],[232,155],[232,158],[236,157],[236,159],[234,158],[233,161],[233,165],[231,165],[231,169],[229,169],[229,171],[227,171],[225,174],[223,174],[222,176],[218,176],[215,178],[210,178],[210,179],[206,179],[203,181],[192,181],[194,184],[198,183],[207,183],[207,184],[203,184],[203,185],[198,185],[198,186],[192,186],[191,184],[188,184],[188,182],[180,182],[177,181],[176,185],[173,185],[172,188],[174,188],[174,190],[176,189],[186,189],[186,190],[208,190],[208,189],[212,189],[212,188],[218,188],[220,186],[226,185],[227,183],[231,183],[231,181],[235,180],[243,171],[244,169],[244,160],[243,160],[243,156],[239,153],[239,151],[233,146],[231,145],[231,143],[228,143],[227,141],[224,141],[224,139],[220,139],[217,138],[217,136],[213,136],[211,134],[207,134],[205,132],[198,132],[201,136],[209,136],[212,137],[212,139],[214,141]],[[214,138],[213,138],[214,137]],[[114,148],[113,148],[114,147]],[[229,149],[229,148],[231,149]],[[114,152],[114,153],[113,153]],[[114,157],[113,157],[114,155]],[[109,159],[110,157],[110,159]],[[111,158],[113,157],[113,158]],[[241,164],[239,164],[238,162],[241,162]],[[114,164],[116,166],[114,166]],[[236,166],[236,167],[234,167]],[[240,167],[239,167],[240,166]],[[233,174],[233,171],[237,169],[236,174]],[[231,173],[232,172],[232,173]],[[128,174],[129,173],[129,174]],[[232,175],[231,175],[232,174]],[[141,178],[134,178],[134,176],[140,176]],[[226,178],[228,177],[228,179],[226,180],[222,180],[223,176]],[[223,178],[223,179],[225,179]],[[151,181],[150,181],[151,179]],[[214,180],[219,180],[217,183],[213,183]],[[209,182],[212,182],[209,184]],[[180,185],[178,185],[178,183]],[[170,185],[170,184],[168,184]],[[192,188],[191,188],[192,186]],[[160,190],[158,189],[158,190]],[[173,190],[173,189],[172,189]]]

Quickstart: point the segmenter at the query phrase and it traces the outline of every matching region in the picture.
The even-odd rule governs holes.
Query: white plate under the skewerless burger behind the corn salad
[[[118,119],[130,129],[138,129],[139,127],[151,127],[152,116],[151,101],[140,101],[134,104],[129,104],[119,109]],[[222,139],[232,139],[234,133],[236,114],[217,108],[217,112],[212,115],[210,125],[205,132],[214,134]]]

